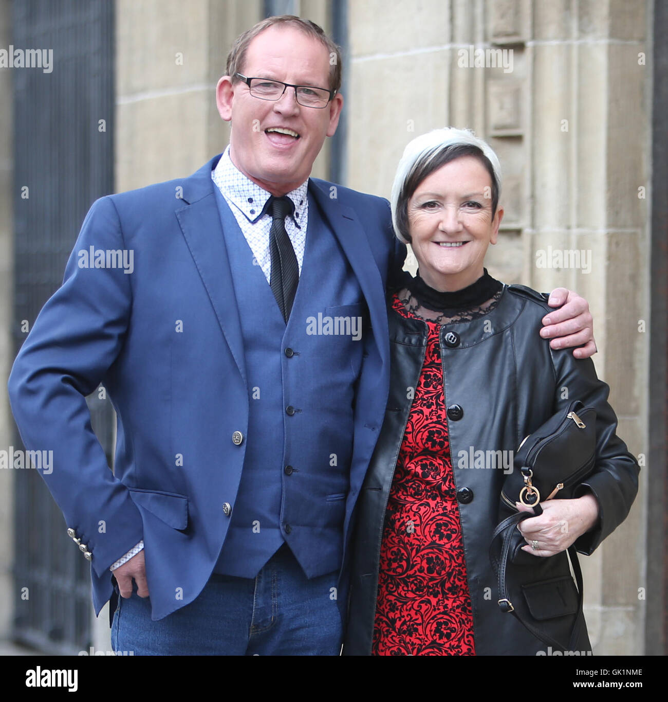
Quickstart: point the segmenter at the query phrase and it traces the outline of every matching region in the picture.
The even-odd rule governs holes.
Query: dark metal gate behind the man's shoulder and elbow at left
[[[62,282],[88,208],[113,190],[114,3],[14,0],[12,10],[15,49],[53,50],[51,70],[13,69],[18,351]],[[113,411],[97,393],[88,404],[111,465]],[[91,576],[65,529],[41,477],[15,471],[14,637],[72,654],[91,645]]]

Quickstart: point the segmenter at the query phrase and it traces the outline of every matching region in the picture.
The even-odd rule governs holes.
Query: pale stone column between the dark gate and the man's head
[[[225,149],[215,84],[261,13],[259,0],[116,0],[116,192],[189,176]]]

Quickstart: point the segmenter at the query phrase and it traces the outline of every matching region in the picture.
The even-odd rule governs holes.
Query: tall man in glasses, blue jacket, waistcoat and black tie
[[[117,603],[116,650],[340,650],[345,545],[388,392],[384,291],[405,255],[387,201],[309,180],[340,72],[311,22],[242,34],[216,91],[229,149],[96,201],[15,361],[16,421],[53,449],[43,477],[91,561],[96,614]],[[119,250],[132,274],[104,254],[82,265]],[[582,298],[549,317],[594,352]],[[113,475],[84,399],[100,382]]]

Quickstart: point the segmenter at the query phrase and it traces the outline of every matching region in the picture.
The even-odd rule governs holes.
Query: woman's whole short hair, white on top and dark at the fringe
[[[501,195],[501,165],[493,149],[470,129],[434,129],[410,141],[396,167],[390,198],[392,225],[394,233],[404,244],[410,244],[408,200],[417,186],[441,166],[462,156],[476,157],[489,171],[492,179],[492,216],[495,215]]]

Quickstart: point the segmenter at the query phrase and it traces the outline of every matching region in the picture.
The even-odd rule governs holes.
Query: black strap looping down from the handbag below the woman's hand
[[[542,510],[541,510],[542,511]],[[490,561],[492,566],[497,572],[498,588],[499,588],[499,609],[507,614],[512,612],[515,618],[535,637],[540,639],[542,642],[551,645],[553,648],[563,650],[562,644],[554,640],[551,636],[547,635],[540,629],[535,628],[533,624],[529,623],[523,619],[519,612],[513,607],[512,602],[509,600],[507,583],[506,583],[506,568],[510,556],[510,548],[512,545],[512,537],[514,536],[514,529],[516,529],[519,522],[523,519],[528,519],[528,517],[534,517],[530,512],[517,512],[510,517],[504,519],[492,535],[492,543],[490,545]],[[496,542],[501,539],[501,548],[497,556]],[[570,557],[570,562],[573,564],[573,574],[575,574],[575,583],[577,585],[577,612],[575,614],[575,624],[573,625],[573,631],[570,633],[570,642],[568,644],[568,650],[573,650],[573,644],[575,644],[575,638],[577,637],[577,622],[580,620],[580,614],[582,613],[582,571],[580,570],[580,562],[577,560],[577,550],[574,545],[568,547],[568,556]],[[538,557],[538,556],[537,556]]]

